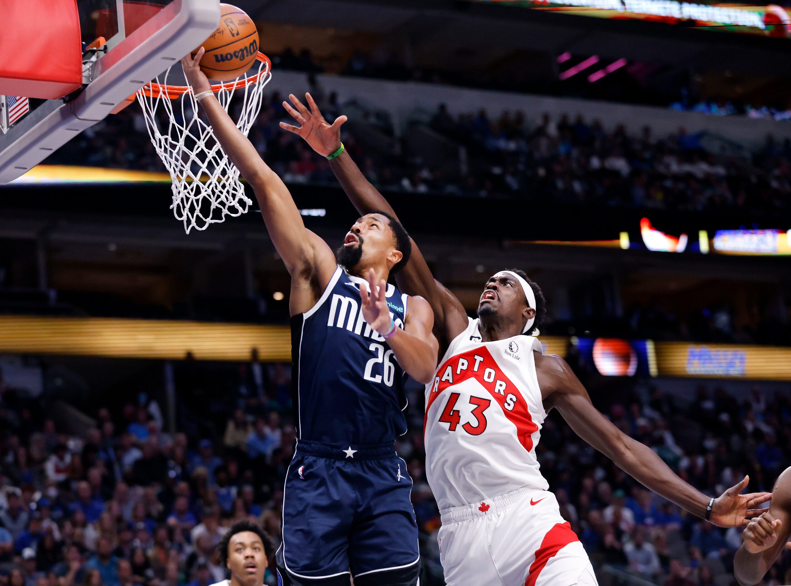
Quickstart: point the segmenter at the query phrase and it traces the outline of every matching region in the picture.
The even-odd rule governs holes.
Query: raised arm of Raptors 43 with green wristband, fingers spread
[[[291,126],[286,122],[280,122],[280,126],[304,138],[321,156],[330,156],[337,152],[341,147],[341,126],[346,122],[346,116],[339,116],[335,122],[329,124],[309,93],[305,94],[309,109],[293,94],[289,99],[293,105],[283,102],[283,107],[300,126]],[[362,175],[348,152],[344,150],[335,156],[330,161],[330,167],[358,212],[366,214],[382,211],[394,218],[398,217],[384,196]],[[434,332],[445,344],[467,328],[467,312],[464,311],[464,306],[456,299],[456,295],[434,280],[431,269],[414,240],[410,260],[395,280],[405,293],[420,296],[429,302],[434,312]]]

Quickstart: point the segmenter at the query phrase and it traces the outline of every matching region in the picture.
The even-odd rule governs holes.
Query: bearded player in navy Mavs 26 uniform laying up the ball
[[[182,60],[196,95],[210,89],[202,54]],[[366,214],[334,255],[305,228],[286,186],[214,95],[200,103],[252,186],[291,275],[298,420],[276,556],[280,583],[347,586],[351,573],[357,586],[417,584],[412,481],[395,438],[406,432],[404,376],[433,378],[437,340],[426,300],[387,284],[409,258],[409,236],[392,216]]]

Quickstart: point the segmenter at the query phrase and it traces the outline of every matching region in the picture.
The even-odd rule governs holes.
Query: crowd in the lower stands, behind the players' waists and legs
[[[600,377],[573,349],[567,359],[619,429],[706,494],[745,474],[751,490],[770,490],[791,457],[791,401],[779,392],[745,385],[737,399],[701,385],[694,400],[681,401],[647,381]],[[78,427],[59,417],[51,399],[32,399],[0,378],[0,585],[209,586],[225,578],[214,547],[240,519],[261,524],[278,546],[295,434],[290,370],[255,360],[238,370],[200,362],[180,368],[172,433],[161,402],[146,393],[122,396],[112,408],[108,393],[97,393],[82,405],[93,424]],[[442,584],[422,389],[410,394],[411,429],[397,447],[414,480],[422,582]],[[713,527],[649,493],[554,413],[541,434],[543,475],[600,577],[735,584],[739,529]],[[764,584],[789,584],[789,554]],[[266,583],[276,584],[271,572]]]

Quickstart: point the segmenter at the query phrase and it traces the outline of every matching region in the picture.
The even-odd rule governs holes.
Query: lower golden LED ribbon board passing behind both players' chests
[[[544,354],[565,358],[575,347],[581,362],[607,377],[740,378],[791,381],[791,347],[654,342],[620,338],[539,336]],[[0,354],[80,355],[104,358],[248,360],[291,357],[287,325],[108,317],[0,316]]]

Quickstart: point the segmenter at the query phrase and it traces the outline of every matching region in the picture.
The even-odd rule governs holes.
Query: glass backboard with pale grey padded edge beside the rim
[[[2,0],[26,2],[26,0]],[[32,100],[32,111],[0,135],[0,185],[24,175],[109,115],[138,88],[198,47],[220,21],[220,0],[77,0],[81,39],[106,52],[83,57],[81,90]]]

